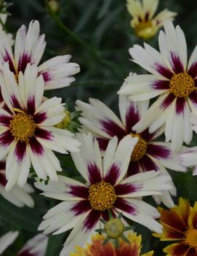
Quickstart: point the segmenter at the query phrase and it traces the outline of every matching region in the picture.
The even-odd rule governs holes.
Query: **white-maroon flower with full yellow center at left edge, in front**
[[[4,63],[1,92],[7,109],[0,109],[0,160],[7,155],[6,189],[16,183],[23,187],[33,165],[41,179],[57,180],[60,162],[52,152],[78,152],[79,141],[73,133],[55,128],[63,120],[64,106],[61,98],[43,101],[44,79],[38,77],[36,66],[28,64],[25,74],[15,75]]]

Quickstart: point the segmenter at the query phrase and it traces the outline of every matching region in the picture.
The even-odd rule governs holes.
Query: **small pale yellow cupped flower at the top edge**
[[[132,15],[131,26],[138,37],[150,39],[155,36],[164,20],[174,20],[176,12],[164,9],[153,17],[158,7],[158,0],[127,0],[126,7]]]

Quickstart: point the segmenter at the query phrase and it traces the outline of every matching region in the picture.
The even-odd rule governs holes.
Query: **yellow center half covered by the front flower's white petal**
[[[134,146],[134,150],[132,152],[132,161],[138,161],[140,160],[144,155],[147,150],[147,143],[144,139],[141,138],[140,134],[138,133],[131,133],[133,137],[139,138],[137,141],[137,144]]]

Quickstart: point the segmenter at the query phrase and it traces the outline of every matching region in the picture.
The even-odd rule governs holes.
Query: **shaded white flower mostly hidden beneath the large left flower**
[[[18,207],[34,206],[33,198],[29,195],[34,191],[31,185],[25,184],[23,188],[15,185],[11,190],[7,191],[5,190],[6,184],[6,160],[0,160],[0,195]]]

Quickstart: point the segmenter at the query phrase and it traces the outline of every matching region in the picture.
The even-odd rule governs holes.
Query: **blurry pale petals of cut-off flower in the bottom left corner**
[[[0,238],[0,255],[7,247],[13,244],[18,235],[18,231],[10,231]],[[20,252],[17,252],[16,256],[44,256],[47,250],[47,243],[48,237],[44,234],[38,234],[28,240],[23,248],[20,249]]]

